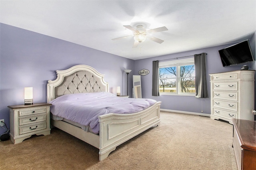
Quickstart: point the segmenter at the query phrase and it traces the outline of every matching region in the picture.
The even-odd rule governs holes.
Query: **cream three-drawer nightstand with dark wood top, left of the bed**
[[[50,106],[48,103],[15,105],[10,108],[10,139],[21,143],[31,135],[50,135]]]

